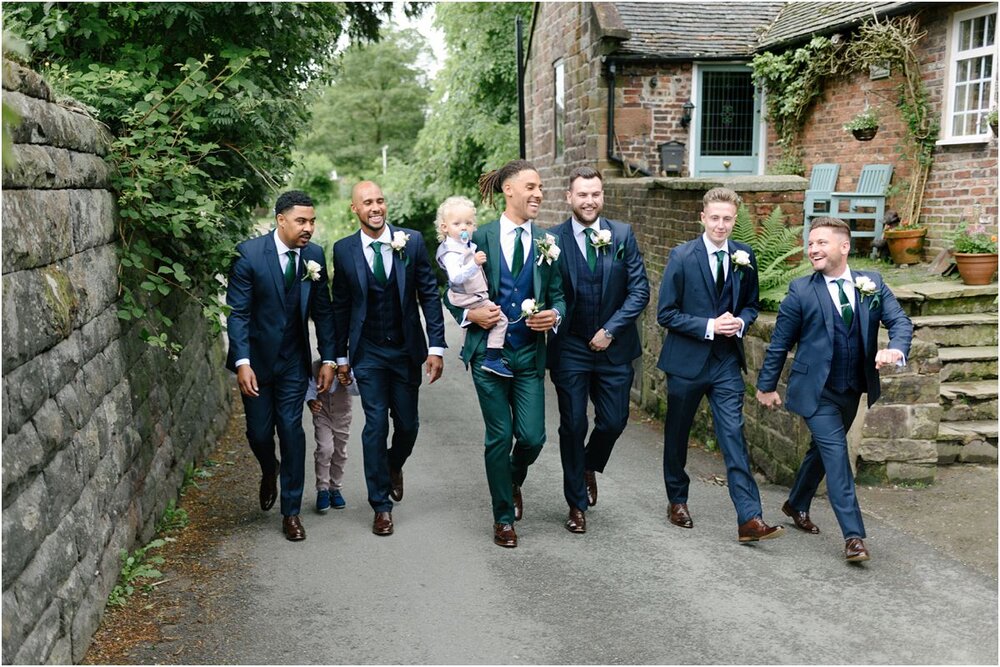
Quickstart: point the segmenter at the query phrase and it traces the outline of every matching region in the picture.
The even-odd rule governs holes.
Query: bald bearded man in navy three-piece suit
[[[372,532],[391,535],[392,501],[403,499],[403,464],[417,440],[420,365],[431,383],[444,368],[444,317],[424,238],[386,222],[382,189],[371,181],[355,185],[351,211],[361,229],[333,246],[337,374],[348,385],[354,369],[365,411],[361,443]]]

